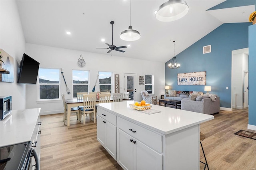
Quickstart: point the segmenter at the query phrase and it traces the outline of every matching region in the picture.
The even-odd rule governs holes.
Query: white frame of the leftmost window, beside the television
[[[53,69],[59,71],[59,83],[39,83],[40,79],[40,69]],[[38,76],[37,76],[37,100],[38,101],[56,101],[61,99],[61,71],[59,68],[48,68],[48,67],[39,67]],[[59,97],[55,99],[40,99],[40,85],[58,85],[59,86]]]

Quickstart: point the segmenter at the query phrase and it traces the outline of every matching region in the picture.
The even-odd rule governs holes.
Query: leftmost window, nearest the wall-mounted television
[[[39,100],[60,99],[60,69],[39,68]]]

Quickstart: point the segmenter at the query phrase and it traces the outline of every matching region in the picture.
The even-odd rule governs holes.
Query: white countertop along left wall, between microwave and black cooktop
[[[0,121],[0,147],[30,141],[40,108],[14,110]]]

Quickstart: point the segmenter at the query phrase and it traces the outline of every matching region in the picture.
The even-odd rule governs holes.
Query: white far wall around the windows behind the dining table
[[[145,89],[145,85],[139,85],[139,76],[143,75],[145,77],[145,74],[154,75],[154,94],[157,95],[158,98],[161,97],[161,94],[165,93],[164,63],[114,56],[115,54],[118,55],[117,51],[114,51],[111,56],[110,54],[103,55],[30,43],[26,43],[26,54],[38,61],[40,67],[63,69],[66,83],[71,91],[71,94],[67,95],[66,86],[62,78],[61,93],[65,94],[66,99],[72,98],[72,69],[90,71],[90,90],[94,87],[98,71],[110,71],[120,75],[120,93],[124,91],[124,73],[137,74],[137,101],[142,100],[140,91]],[[77,65],[78,58],[81,54],[86,61],[86,65],[83,68]],[[41,115],[63,113],[61,100],[38,102],[37,88],[38,84],[26,85],[26,108],[40,107]],[[95,91],[99,91],[97,85]]]

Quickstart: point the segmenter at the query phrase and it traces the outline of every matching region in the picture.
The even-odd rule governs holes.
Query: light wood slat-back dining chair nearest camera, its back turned
[[[80,111],[80,120],[82,115],[84,115],[84,125],[85,125],[85,114],[90,115],[90,119],[92,118],[92,114],[94,117],[94,123],[96,123],[96,115],[95,115],[95,104],[96,104],[96,94],[83,95],[83,107],[78,107]]]

